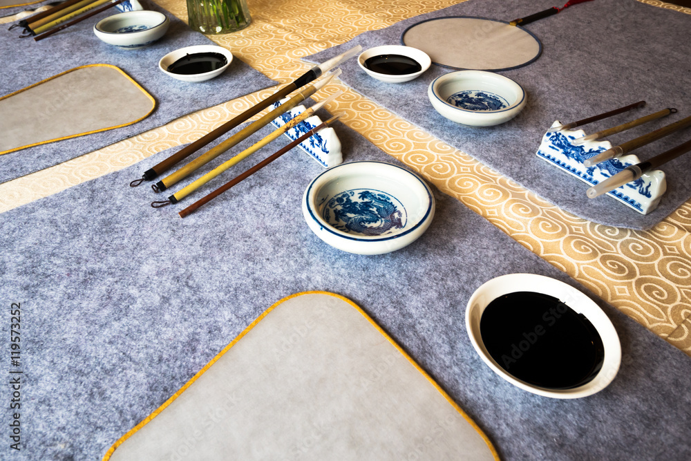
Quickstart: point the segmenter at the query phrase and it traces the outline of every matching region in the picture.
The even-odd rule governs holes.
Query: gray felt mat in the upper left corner
[[[16,29],[0,30],[0,62],[3,65],[0,95],[13,93],[71,68],[87,64],[111,64],[122,69],[151,94],[157,106],[149,117],[129,126],[6,153],[0,156],[0,182],[51,167],[167,124],[182,115],[275,84],[237,57],[223,74],[206,82],[180,82],[165,75],[158,68],[158,61],[164,55],[185,46],[213,45],[214,42],[200,32],[194,32],[187,24],[154,3],[147,1],[142,5],[167,15],[170,27],[160,40],[136,50],[108,45],[94,35],[94,24],[116,14],[115,9],[104,11],[41,41],[18,39]],[[11,113],[0,113],[0,120],[11,116]]]

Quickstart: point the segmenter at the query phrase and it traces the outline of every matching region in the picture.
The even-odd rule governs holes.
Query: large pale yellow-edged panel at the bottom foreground
[[[278,301],[104,460],[493,460],[475,423],[357,305]]]

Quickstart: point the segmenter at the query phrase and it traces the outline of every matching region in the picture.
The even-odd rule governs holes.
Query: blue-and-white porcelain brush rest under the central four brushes
[[[276,107],[280,106],[289,99],[290,98],[286,97],[279,102],[275,102],[272,108],[276,109]],[[294,117],[306,110],[307,109],[305,109],[305,106],[303,105],[295,106],[293,109],[290,109],[290,111],[286,111],[280,117],[276,117],[272,121],[272,124],[274,124],[276,128],[280,128],[286,122],[289,122]],[[319,126],[321,122],[322,120],[318,115],[312,115],[312,117],[307,117],[303,122],[286,131],[285,135],[290,138],[290,140],[294,141],[301,135],[307,133],[307,131],[313,129],[315,126]],[[331,126],[328,126],[327,128],[319,131],[319,133],[310,136],[310,138],[307,138],[301,142],[299,147],[303,151],[307,152],[310,157],[319,162],[319,164],[321,164],[321,166],[324,168],[335,167],[337,164],[343,163],[341,140],[339,140],[339,137],[336,135],[336,131]]]

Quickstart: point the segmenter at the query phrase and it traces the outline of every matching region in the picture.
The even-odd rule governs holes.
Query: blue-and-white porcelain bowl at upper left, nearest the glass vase
[[[163,37],[169,25],[168,17],[158,11],[126,11],[101,19],[93,33],[106,44],[133,50]]]

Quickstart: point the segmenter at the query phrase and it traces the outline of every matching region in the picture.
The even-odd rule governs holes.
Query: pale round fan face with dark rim
[[[429,55],[434,64],[456,69],[508,70],[538,59],[535,35],[504,21],[479,17],[441,17],[407,28],[401,37]]]

